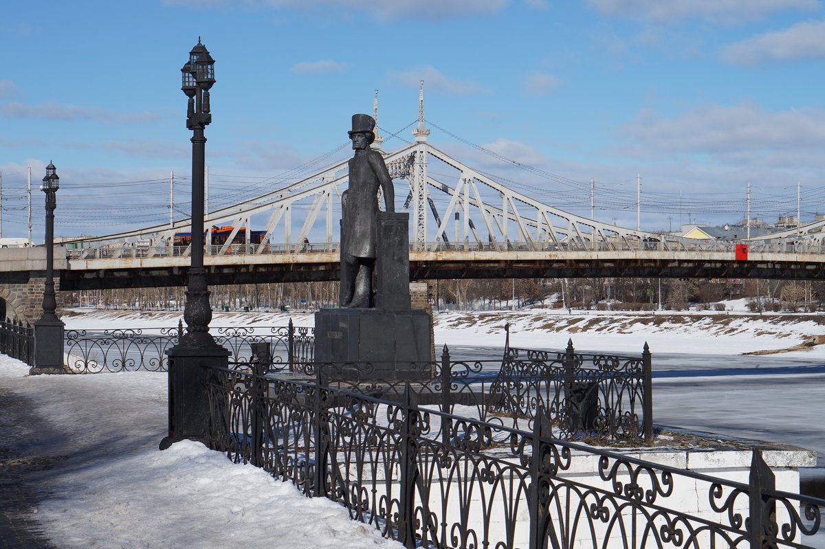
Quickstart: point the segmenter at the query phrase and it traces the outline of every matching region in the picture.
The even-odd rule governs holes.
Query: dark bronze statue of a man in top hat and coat
[[[375,269],[378,190],[384,191],[386,211],[395,211],[393,180],[381,153],[370,148],[375,141],[375,120],[352,115],[355,156],[349,162],[349,189],[342,195],[341,307],[375,307],[372,277]]]

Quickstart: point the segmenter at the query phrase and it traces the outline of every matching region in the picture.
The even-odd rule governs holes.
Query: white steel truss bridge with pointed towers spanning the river
[[[825,279],[825,220],[747,241],[700,241],[620,228],[544,204],[427,142],[419,109],[415,142],[384,153],[402,211],[410,214],[413,279],[696,277]],[[380,150],[381,139],[376,140]],[[337,236],[347,161],[205,214],[230,227],[207,235],[210,284],[338,278]],[[512,184],[511,186],[521,186]],[[380,200],[381,202],[381,200]],[[262,231],[252,239],[252,221]],[[229,230],[229,229],[227,229]],[[181,285],[190,220],[67,242],[61,289]],[[313,242],[309,243],[309,237]],[[320,241],[320,242],[319,242]],[[239,243],[240,242],[240,243]],[[790,243],[789,243],[790,242]],[[747,244],[747,258],[737,255]],[[73,248],[77,249],[73,249]],[[741,251],[741,250],[740,250]]]

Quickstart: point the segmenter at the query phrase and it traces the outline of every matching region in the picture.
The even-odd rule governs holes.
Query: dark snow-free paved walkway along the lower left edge
[[[32,453],[36,418],[30,401],[0,388],[0,549],[55,549],[31,519],[43,497],[38,472],[54,463]]]

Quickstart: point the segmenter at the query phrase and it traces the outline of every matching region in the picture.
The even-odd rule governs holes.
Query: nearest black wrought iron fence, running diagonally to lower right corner
[[[825,500],[331,387],[210,368],[210,446],[345,506],[405,547],[810,547]],[[589,472],[589,474],[588,474]]]

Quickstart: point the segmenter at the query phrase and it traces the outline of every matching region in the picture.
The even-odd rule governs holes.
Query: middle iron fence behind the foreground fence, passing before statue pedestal
[[[530,356],[520,359],[520,356]],[[589,359],[592,364],[585,364]],[[304,364],[238,362],[264,373],[290,371],[324,384],[399,401],[405,378],[375,379],[370,363]],[[447,346],[437,363],[403,364],[413,383],[413,399],[461,414],[523,429],[539,410],[549,417],[554,437],[594,443],[641,444],[653,439],[651,354],[637,358],[507,348],[502,360],[455,361]],[[497,375],[494,373],[498,368]],[[422,375],[423,373],[423,375]],[[420,382],[424,378],[430,381]]]

